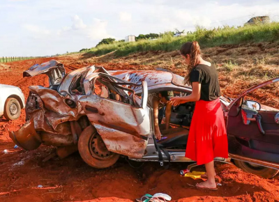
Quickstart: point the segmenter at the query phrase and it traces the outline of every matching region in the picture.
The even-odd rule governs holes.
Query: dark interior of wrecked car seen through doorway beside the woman
[[[186,96],[187,93],[174,91],[175,96]],[[158,141],[160,146],[167,149],[185,149],[188,140],[190,122],[193,117],[195,102],[187,102],[172,107],[169,129],[165,130],[165,107],[159,110],[159,126],[162,138]],[[164,121],[164,123],[163,123]]]

